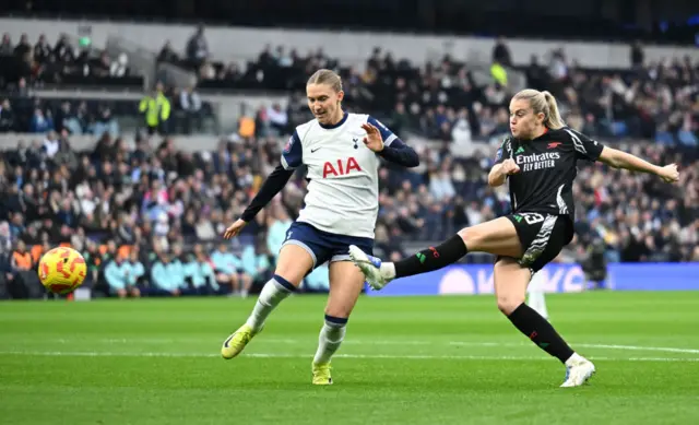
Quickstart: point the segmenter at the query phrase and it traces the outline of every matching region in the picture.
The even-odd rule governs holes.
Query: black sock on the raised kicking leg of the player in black
[[[412,276],[441,269],[459,261],[467,252],[466,244],[461,236],[454,235],[437,248],[429,247],[412,257],[394,262],[395,278]]]

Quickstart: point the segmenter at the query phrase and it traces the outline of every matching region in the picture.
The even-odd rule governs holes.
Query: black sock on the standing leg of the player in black
[[[573,351],[566,341],[556,332],[554,327],[538,312],[522,303],[512,311],[508,319],[517,329],[529,337],[534,344],[546,353],[566,363],[573,355]]]

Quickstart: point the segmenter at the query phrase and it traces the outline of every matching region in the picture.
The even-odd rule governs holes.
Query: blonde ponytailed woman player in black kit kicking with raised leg
[[[599,161],[614,168],[655,174],[665,182],[676,182],[679,174],[675,164],[650,164],[566,127],[548,92],[523,90],[514,95],[510,130],[512,135],[498,150],[488,185],[498,187],[509,180],[511,214],[463,228],[438,247],[398,262],[382,262],[354,247],[350,255],[375,290],[395,279],[441,269],[469,251],[497,256],[494,280],[498,308],[520,332],[566,366],[561,387],[578,387],[594,374],[594,365],[524,303],[532,275],[573,237],[576,163]]]

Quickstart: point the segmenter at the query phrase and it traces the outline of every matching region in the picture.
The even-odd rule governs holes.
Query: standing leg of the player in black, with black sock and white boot
[[[495,263],[495,294],[498,309],[546,353],[566,365],[566,381],[561,387],[578,387],[594,374],[594,365],[570,349],[554,327],[524,303],[531,271],[513,258],[500,258]]]

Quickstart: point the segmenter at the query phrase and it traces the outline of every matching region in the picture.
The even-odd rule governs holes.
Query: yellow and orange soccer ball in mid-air
[[[87,274],[85,259],[72,248],[54,248],[39,261],[39,280],[56,294],[69,294],[82,285]]]

